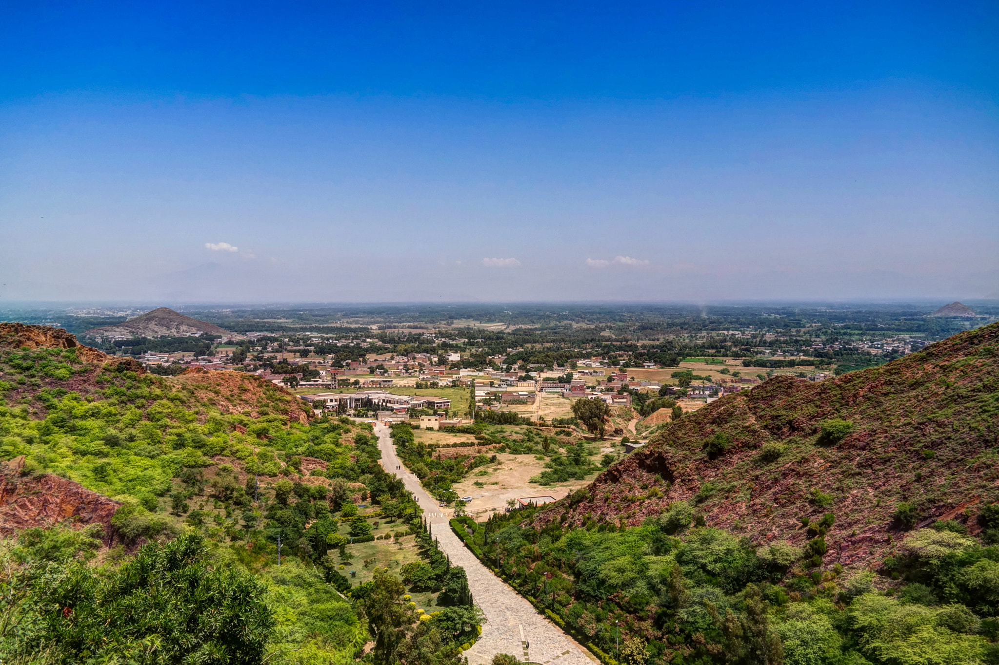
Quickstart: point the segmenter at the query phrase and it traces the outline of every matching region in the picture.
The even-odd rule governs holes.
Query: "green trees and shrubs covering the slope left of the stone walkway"
[[[374,539],[372,519],[419,528],[421,510],[378,464],[371,426],[223,414],[197,396],[219,394],[211,384],[99,368],[71,351],[0,349],[0,372],[0,460],[25,457],[17,483],[52,473],[120,501],[110,526],[123,543],[104,548],[99,523],[6,542],[4,662],[325,665],[353,662],[375,634],[365,592],[354,595],[329,552]],[[310,458],[326,469],[304,474]],[[375,510],[359,512],[352,496]],[[469,602],[460,569],[436,571],[445,604],[449,593]],[[401,633],[422,654],[408,662],[453,660],[474,639],[470,612],[456,602],[417,618],[419,630]],[[391,662],[378,648],[367,659]]]

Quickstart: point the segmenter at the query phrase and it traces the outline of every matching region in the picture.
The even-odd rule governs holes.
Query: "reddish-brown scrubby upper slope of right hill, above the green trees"
[[[999,499],[999,324],[881,367],[775,378],[663,426],[536,520],[641,523],[685,500],[755,543],[809,539],[832,513],[828,565],[865,567],[899,531]],[[535,520],[535,523],[537,521]]]

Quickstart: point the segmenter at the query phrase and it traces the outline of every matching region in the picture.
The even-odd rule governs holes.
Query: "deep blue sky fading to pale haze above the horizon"
[[[999,297],[999,6],[7,3],[0,300]]]

